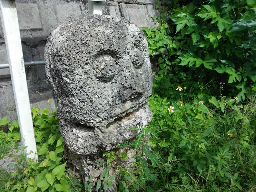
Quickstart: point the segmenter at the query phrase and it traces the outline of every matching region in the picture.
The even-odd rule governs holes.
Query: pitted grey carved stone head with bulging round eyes
[[[70,17],[51,32],[46,71],[67,147],[97,154],[131,140],[152,114],[152,72],[143,32],[111,16]]]

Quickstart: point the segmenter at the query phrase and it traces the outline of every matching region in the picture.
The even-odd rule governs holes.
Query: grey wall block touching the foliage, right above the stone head
[[[154,27],[155,22],[150,18],[147,6],[138,4],[119,4],[122,17],[131,21],[138,27]]]

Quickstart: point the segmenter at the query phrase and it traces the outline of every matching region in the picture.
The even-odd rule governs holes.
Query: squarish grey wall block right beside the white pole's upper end
[[[20,29],[42,29],[36,4],[16,3]]]

